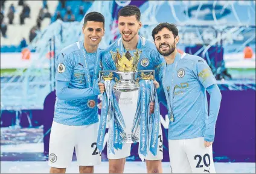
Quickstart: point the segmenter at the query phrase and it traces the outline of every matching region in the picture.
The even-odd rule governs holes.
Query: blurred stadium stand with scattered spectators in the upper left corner
[[[1,52],[21,52],[21,45],[28,45],[36,33],[42,32],[48,25],[57,20],[58,14],[63,22],[80,21],[92,5],[92,1],[63,0],[4,1],[3,3],[4,5],[1,5],[1,13],[3,14],[1,25],[6,25],[7,30],[5,36],[1,32]],[[24,25],[22,25],[20,17],[24,4],[30,8],[30,14],[24,19]],[[9,23],[8,19],[10,5],[13,5],[14,8],[12,24]],[[1,26],[1,28],[3,27]],[[22,40],[23,43],[21,43]]]

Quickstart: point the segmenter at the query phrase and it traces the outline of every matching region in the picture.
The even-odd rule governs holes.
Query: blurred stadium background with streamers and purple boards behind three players
[[[179,51],[204,58],[216,76],[222,92],[213,144],[216,172],[255,173],[255,1],[0,2],[1,173],[49,172],[56,55],[83,39],[83,17],[91,11],[104,15],[100,47],[109,46],[120,37],[117,14],[128,4],[141,9],[141,36],[153,40],[158,23],[175,23]],[[161,105],[163,167],[170,173],[166,114]],[[67,173],[78,173],[75,155],[73,161]],[[138,144],[127,161],[124,172],[146,173]],[[95,167],[95,173],[107,173],[107,166]]]

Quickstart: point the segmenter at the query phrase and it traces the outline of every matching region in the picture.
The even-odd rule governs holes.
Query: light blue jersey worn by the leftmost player
[[[98,77],[100,54],[101,49],[95,53],[86,52],[83,42],[60,51],[57,57],[54,122],[72,126],[98,122],[97,95],[100,91],[94,77]]]

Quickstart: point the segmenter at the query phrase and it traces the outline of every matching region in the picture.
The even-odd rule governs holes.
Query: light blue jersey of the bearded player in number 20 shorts
[[[204,137],[208,120],[206,88],[216,84],[210,67],[196,55],[181,56],[177,52],[174,63],[167,64],[162,74],[163,88],[165,95],[168,93],[167,102],[170,104],[169,113],[174,116],[174,122],[169,125],[168,139]],[[215,123],[216,120],[214,128]],[[212,140],[214,130],[210,132]]]

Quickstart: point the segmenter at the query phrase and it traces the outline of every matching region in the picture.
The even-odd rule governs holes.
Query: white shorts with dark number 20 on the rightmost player
[[[203,137],[168,143],[171,173],[216,173],[213,147],[205,148]]]

